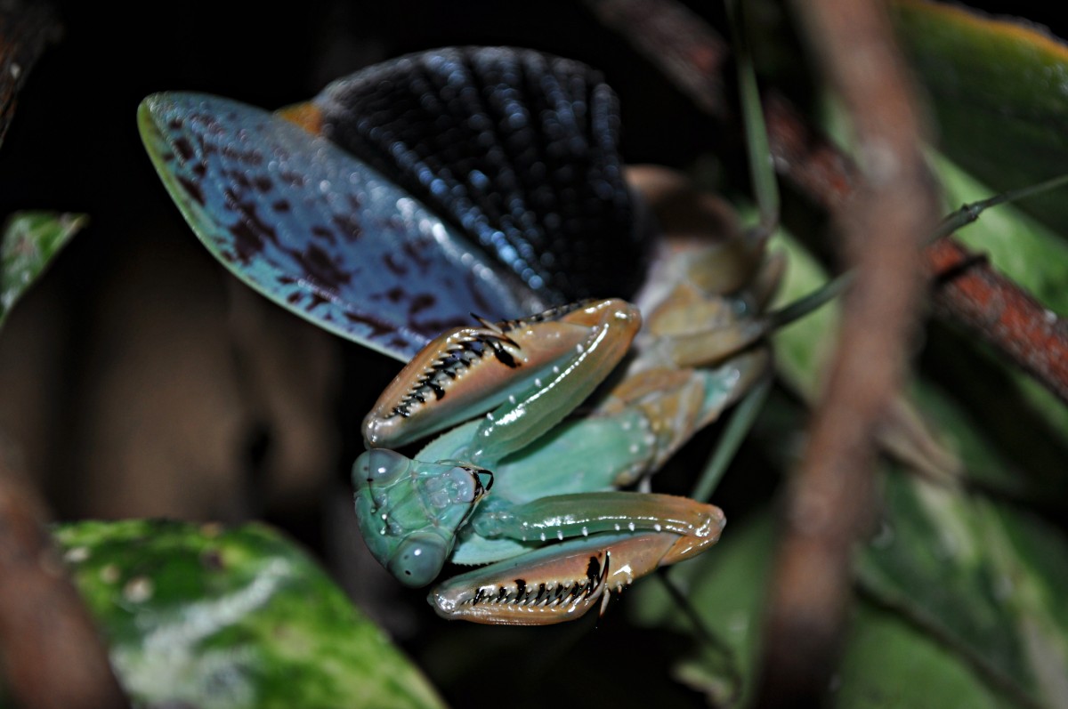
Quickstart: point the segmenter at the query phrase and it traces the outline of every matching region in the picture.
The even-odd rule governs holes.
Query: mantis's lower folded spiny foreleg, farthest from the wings
[[[562,623],[598,602],[603,613],[612,590],[700,554],[716,543],[724,524],[718,507],[674,495],[546,498],[484,516],[476,522],[480,533],[520,539],[582,536],[455,577],[428,600],[442,617],[486,624]]]

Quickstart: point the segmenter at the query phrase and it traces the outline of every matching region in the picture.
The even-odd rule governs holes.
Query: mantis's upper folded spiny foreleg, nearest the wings
[[[465,459],[499,459],[588,396],[640,327],[638,309],[610,298],[446,332],[382,392],[363,422],[366,445],[395,448],[496,408]]]

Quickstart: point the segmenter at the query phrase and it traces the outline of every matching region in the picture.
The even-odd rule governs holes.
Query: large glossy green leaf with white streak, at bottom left
[[[265,525],[81,522],[56,538],[139,705],[443,706],[326,573]]]

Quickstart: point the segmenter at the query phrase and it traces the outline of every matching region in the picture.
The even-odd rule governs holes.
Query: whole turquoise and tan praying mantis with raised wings
[[[485,89],[472,98],[474,85]],[[419,111],[449,115],[465,96],[483,113],[446,121],[444,138],[440,121],[424,125]],[[398,115],[379,122],[381,106]],[[480,565],[431,588],[446,618],[540,625],[603,611],[612,592],[705,551],[725,523],[712,505],[650,492],[648,476],[767,376],[782,262],[741,230],[649,256],[628,223],[640,207],[614,152],[614,106],[576,62],[462,48],[372,67],[280,113],[182,93],[139,111],[164,186],[220,261],[316,325],[408,362],[364,421],[357,517],[407,585],[433,583],[446,562]],[[361,143],[409,182],[344,149]],[[520,185],[509,164],[522,160],[552,175]],[[541,189],[553,180],[556,195]],[[633,303],[593,293],[633,280],[606,278],[596,250],[614,268],[654,264]],[[565,287],[557,259],[581,267],[578,285]],[[431,436],[412,458],[397,451]]]

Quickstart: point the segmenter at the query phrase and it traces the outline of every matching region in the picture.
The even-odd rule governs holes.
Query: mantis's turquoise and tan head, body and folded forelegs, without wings
[[[617,488],[766,372],[760,311],[775,267],[739,250],[742,238],[666,257],[672,285],[649,298],[644,328],[638,308],[606,299],[430,343],[364,421],[354,480],[374,555],[412,586],[446,561],[489,563],[436,586],[436,611],[534,625],[603,609],[611,590],[714,543],[719,508]],[[729,294],[709,283],[724,258],[749,269]],[[414,459],[389,450],[442,429]]]

